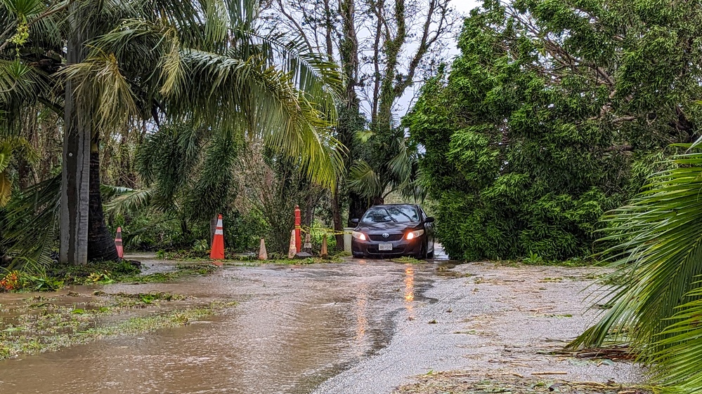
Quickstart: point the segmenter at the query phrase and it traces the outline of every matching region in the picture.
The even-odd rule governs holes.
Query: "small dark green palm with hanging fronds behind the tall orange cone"
[[[147,189],[113,189],[105,208],[112,215],[155,208],[179,219],[188,233],[190,220],[210,219],[232,202],[242,149],[240,139],[225,139],[209,128],[163,125],[145,138],[136,156]]]

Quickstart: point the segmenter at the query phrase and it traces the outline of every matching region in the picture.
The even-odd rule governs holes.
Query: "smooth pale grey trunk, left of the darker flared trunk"
[[[77,4],[71,6],[75,11]],[[74,14],[72,35],[67,43],[66,60],[76,64],[84,60],[85,29],[79,29]],[[74,92],[76,84],[66,83],[63,140],[63,170],[61,172],[60,249],[58,259],[63,264],[88,263],[88,216],[91,118],[90,104]]]

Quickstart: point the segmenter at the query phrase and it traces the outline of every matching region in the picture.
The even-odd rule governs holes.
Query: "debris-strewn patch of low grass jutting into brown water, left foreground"
[[[196,306],[178,303],[185,299],[181,294],[167,292],[69,293],[25,299],[24,305],[0,308],[0,360],[56,351],[105,337],[188,325],[235,305],[233,301]],[[125,318],[101,323],[111,315]]]

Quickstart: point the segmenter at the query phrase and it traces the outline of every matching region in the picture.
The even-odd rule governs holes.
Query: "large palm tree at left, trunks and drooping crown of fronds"
[[[6,18],[6,32],[30,30],[18,48],[39,47],[46,36],[66,32],[58,40],[66,43],[68,64],[58,73],[65,81],[61,261],[116,256],[103,219],[98,152],[100,139],[135,119],[152,119],[155,128],[188,122],[224,138],[263,138],[301,158],[317,182],[334,182],[341,149],[328,128],[339,74],[298,43],[257,34],[258,1],[4,4],[14,18]],[[36,63],[19,55],[18,61]]]

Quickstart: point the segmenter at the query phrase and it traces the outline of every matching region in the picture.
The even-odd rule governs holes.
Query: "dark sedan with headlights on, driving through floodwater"
[[[353,222],[353,257],[434,258],[434,218],[419,205],[373,205]]]

